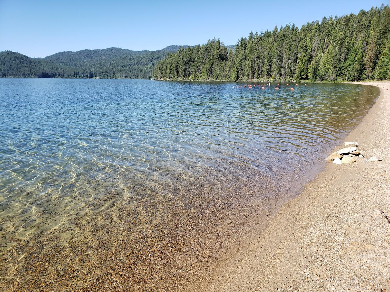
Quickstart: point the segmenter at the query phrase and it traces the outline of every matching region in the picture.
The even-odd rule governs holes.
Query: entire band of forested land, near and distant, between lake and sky
[[[300,29],[290,23],[234,46],[219,39],[158,51],[121,48],[45,58],[0,52],[0,77],[128,78],[191,81],[339,82],[390,79],[389,5],[331,16]]]

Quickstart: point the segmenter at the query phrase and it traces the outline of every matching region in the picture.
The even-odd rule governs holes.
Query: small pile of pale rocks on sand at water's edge
[[[362,151],[356,150],[359,146],[358,142],[344,142],[345,148],[340,149],[339,151],[329,155],[326,160],[329,162],[333,161],[335,164],[342,163],[353,163],[355,161],[359,162],[373,162],[373,161],[382,161],[378,157],[366,158],[366,155]]]

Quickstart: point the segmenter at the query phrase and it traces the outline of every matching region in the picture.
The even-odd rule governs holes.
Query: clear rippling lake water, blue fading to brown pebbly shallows
[[[0,79],[0,287],[203,287],[379,95],[232,85]]]

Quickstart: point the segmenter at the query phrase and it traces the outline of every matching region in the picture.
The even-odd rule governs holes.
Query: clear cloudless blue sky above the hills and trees
[[[157,50],[220,38],[235,44],[251,30],[298,27],[357,13],[388,0],[328,1],[20,1],[0,0],[0,51],[30,57],[121,47]]]

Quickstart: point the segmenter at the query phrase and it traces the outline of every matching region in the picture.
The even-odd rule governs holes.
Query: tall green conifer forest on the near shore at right
[[[390,79],[390,9],[382,5],[342,17],[251,32],[234,51],[220,40],[179,48],[157,63],[171,80],[342,81]]]

